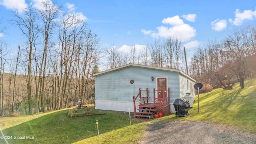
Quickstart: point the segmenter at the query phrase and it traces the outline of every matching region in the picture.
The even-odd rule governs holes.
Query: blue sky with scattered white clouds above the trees
[[[25,43],[20,30],[8,22],[12,8],[41,1],[0,0],[0,29],[7,27],[0,37],[8,47]],[[58,0],[58,5],[80,13],[102,47],[114,44],[120,51],[171,36],[180,38],[192,56],[209,40],[222,40],[234,30],[256,24],[256,0]]]

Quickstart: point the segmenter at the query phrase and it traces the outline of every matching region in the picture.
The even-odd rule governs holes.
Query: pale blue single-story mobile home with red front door
[[[195,80],[182,72],[170,68],[126,64],[117,68],[94,74],[95,78],[95,108],[100,110],[134,111],[133,96],[137,96],[139,88],[141,96],[148,95],[148,103],[154,103],[153,96],[160,96],[160,90],[165,92],[170,88],[168,103],[170,112],[174,113],[173,102],[176,98],[186,96],[190,92],[195,96],[193,88]],[[154,92],[154,88],[158,92]],[[146,90],[147,89],[147,90]],[[143,91],[144,90],[144,91]],[[138,108],[139,100],[136,102]]]

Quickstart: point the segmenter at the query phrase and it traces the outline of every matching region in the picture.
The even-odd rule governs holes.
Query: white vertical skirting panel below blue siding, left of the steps
[[[136,103],[136,109],[139,108],[139,103]],[[134,112],[133,102],[120,102],[120,101],[108,101],[108,100],[95,100],[95,109],[98,110],[116,110],[122,112]],[[138,110],[137,110],[138,111]]]

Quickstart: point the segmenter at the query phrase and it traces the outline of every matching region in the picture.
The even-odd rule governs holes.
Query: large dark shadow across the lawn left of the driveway
[[[130,125],[129,115],[125,112],[103,111],[105,115],[70,118],[68,110],[54,112],[2,130],[9,144],[70,144],[98,135],[96,120],[100,134]],[[133,121],[132,124],[138,123]],[[24,139],[14,139],[24,138]],[[34,139],[28,139],[28,137]],[[0,139],[0,143],[6,143]]]

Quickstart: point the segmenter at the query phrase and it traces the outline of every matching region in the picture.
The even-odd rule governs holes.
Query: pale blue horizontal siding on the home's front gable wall
[[[179,77],[177,72],[152,70],[147,68],[129,67],[107,74],[96,76],[96,101],[132,102],[132,96],[137,96],[139,88],[148,88],[149,102],[152,102],[153,89],[156,88],[156,77],[168,77],[170,87],[170,102],[179,97]],[[154,80],[151,80],[151,77]],[[130,84],[134,80],[134,84]],[[146,96],[142,92],[142,96]]]

